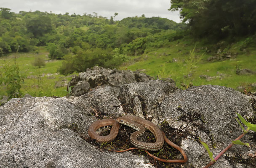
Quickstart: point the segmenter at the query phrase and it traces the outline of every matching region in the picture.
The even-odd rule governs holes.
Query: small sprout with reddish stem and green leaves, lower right
[[[235,118],[237,120],[237,122],[239,123],[239,125],[241,126],[241,128],[243,129],[243,134],[241,134],[240,136],[237,137],[237,139],[235,139],[234,141],[231,141],[232,143],[229,144],[224,150],[222,150],[216,157],[213,158],[213,153],[209,150],[208,145],[205,142],[202,142],[201,140],[199,140],[199,142],[201,144],[203,144],[203,146],[205,147],[205,149],[208,152],[209,157],[211,158],[211,162],[208,163],[208,165],[206,165],[204,168],[208,168],[211,165],[213,165],[218,159],[219,157],[221,157],[221,155],[223,155],[225,152],[227,152],[227,150],[229,150],[229,148],[231,148],[233,146],[233,144],[239,144],[239,145],[245,145],[247,147],[250,147],[250,144],[248,143],[243,143],[240,141],[240,139],[246,134],[248,133],[249,130],[252,131],[256,131],[256,124],[251,124],[249,122],[246,122],[245,119],[238,113],[236,113],[238,118],[240,119],[240,121],[242,121],[242,123],[247,126],[247,129],[245,130],[244,127],[242,126],[242,124],[240,123],[240,121]]]

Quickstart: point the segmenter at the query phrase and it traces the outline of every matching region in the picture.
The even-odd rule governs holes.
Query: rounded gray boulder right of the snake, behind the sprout
[[[221,150],[243,133],[234,117],[236,112],[244,118],[255,118],[251,97],[231,88],[205,85],[190,87],[187,90],[170,94],[156,109],[159,123],[166,120],[173,129],[187,132],[187,139],[182,141],[183,148],[189,157],[190,165],[199,168],[209,161],[204,147],[195,142],[200,137],[206,142],[215,157]],[[246,116],[246,117],[245,117]],[[254,133],[255,134],[255,133]],[[246,134],[242,141],[255,144],[253,134]],[[214,144],[215,148],[211,144]],[[256,148],[253,147],[255,151]],[[244,146],[235,145],[228,151],[229,155],[248,155]],[[204,153],[204,155],[202,155]],[[222,156],[223,157],[223,156]],[[221,158],[213,168],[233,168],[232,163]],[[252,166],[248,166],[252,167]]]

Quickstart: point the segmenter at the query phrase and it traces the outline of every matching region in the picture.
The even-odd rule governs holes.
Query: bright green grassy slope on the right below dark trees
[[[256,91],[256,74],[238,75],[237,69],[248,68],[256,71],[256,48],[248,47],[240,50],[240,44],[245,39],[229,45],[219,56],[216,54],[214,45],[203,45],[192,39],[181,39],[165,44],[165,47],[155,51],[133,57],[128,63],[124,63],[120,69],[142,71],[155,78],[172,78],[176,85],[181,88],[181,82],[188,84],[192,80],[193,85],[213,84],[234,89]],[[189,60],[190,52],[195,47],[195,59]],[[230,54],[231,58],[229,58]],[[216,55],[226,60],[208,61]],[[227,56],[223,56],[227,55]],[[202,60],[198,60],[202,57]],[[189,76],[187,76],[189,74]],[[184,76],[187,76],[184,77]],[[254,84],[252,86],[252,84]]]

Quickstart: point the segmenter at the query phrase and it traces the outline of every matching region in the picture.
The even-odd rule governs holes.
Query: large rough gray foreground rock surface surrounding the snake
[[[255,99],[213,85],[180,90],[161,80],[123,84],[118,91],[94,89],[80,97],[11,99],[0,107],[0,168],[153,168],[148,157],[102,151],[84,140],[99,114],[116,118],[127,113],[158,126],[165,121],[176,133],[167,136],[179,139],[189,160],[165,165],[201,168],[210,159],[196,140],[206,142],[215,157],[243,132],[236,112],[255,122]],[[251,148],[234,145],[212,167],[255,167],[256,133],[250,131],[241,141]]]

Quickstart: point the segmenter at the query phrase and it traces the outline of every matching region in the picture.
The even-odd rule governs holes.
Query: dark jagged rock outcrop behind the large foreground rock
[[[141,74],[138,71],[120,71],[95,66],[92,69],[87,68],[85,72],[81,72],[78,76],[75,76],[69,82],[67,88],[72,87],[72,96],[81,96],[93,88],[99,89],[104,86],[119,88],[123,84],[148,80],[153,80],[153,78],[146,74]]]

